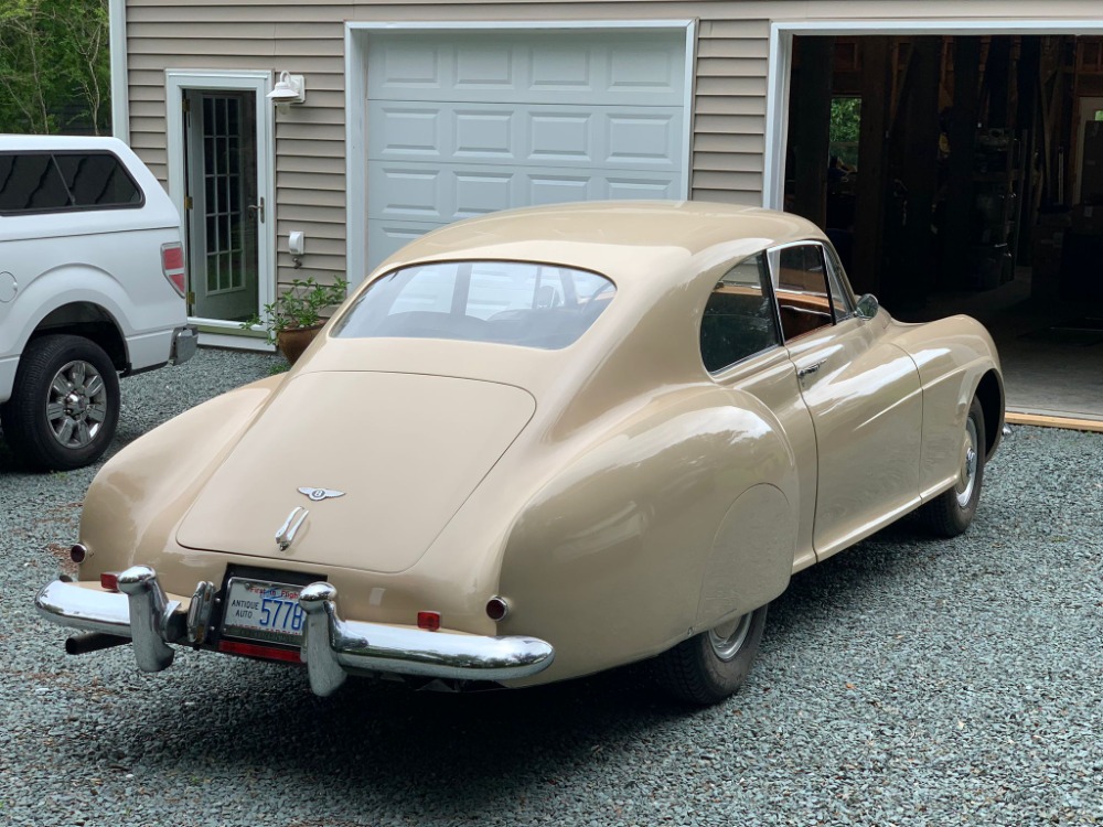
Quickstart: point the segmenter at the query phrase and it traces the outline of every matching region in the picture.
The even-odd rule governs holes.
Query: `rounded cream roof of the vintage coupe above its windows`
[[[681,280],[687,268],[700,268],[703,254],[731,260],[823,237],[804,218],[762,207],[700,201],[557,204],[450,224],[411,241],[377,272],[433,260],[504,259],[595,270],[623,286],[664,275]]]

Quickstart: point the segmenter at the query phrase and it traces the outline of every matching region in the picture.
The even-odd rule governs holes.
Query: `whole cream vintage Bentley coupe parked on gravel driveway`
[[[88,491],[81,631],[421,688],[650,660],[745,679],[790,577],[913,509],[964,531],[1004,415],[975,321],[855,299],[812,224],[574,204],[411,243],[296,366],[116,455]]]

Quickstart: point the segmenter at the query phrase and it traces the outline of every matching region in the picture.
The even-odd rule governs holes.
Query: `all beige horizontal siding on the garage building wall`
[[[128,0],[131,144],[162,181],[164,69],[290,71],[307,104],[276,118],[279,279],[345,269],[344,22],[697,21],[690,194],[759,204],[765,152],[770,21],[1014,20],[1097,17],[1092,0]],[[357,33],[356,36],[362,36]],[[356,182],[353,185],[357,184]],[[308,235],[292,270],[287,234]],[[357,229],[355,232],[362,232]],[[355,275],[354,275],[355,278]]]

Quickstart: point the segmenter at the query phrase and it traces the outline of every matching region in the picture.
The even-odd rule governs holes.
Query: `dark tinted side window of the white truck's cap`
[[[0,215],[141,206],[143,196],[110,152],[0,153]]]

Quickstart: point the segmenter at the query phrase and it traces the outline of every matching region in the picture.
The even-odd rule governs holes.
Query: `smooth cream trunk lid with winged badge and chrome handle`
[[[526,390],[490,382],[299,374],[211,475],[176,539],[195,549],[403,571],[535,410]],[[276,535],[297,507],[309,513],[280,550]]]

